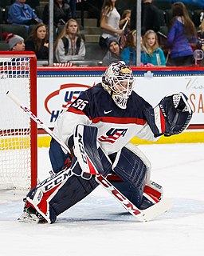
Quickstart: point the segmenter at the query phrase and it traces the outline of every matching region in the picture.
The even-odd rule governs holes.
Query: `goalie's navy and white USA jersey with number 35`
[[[54,133],[68,145],[78,124],[96,126],[97,141],[106,154],[112,154],[134,136],[151,141],[157,139],[152,131],[154,117],[148,118],[146,114],[149,110],[153,110],[152,106],[135,91],[128,98],[127,108],[121,109],[99,83],[80,94],[57,118]]]

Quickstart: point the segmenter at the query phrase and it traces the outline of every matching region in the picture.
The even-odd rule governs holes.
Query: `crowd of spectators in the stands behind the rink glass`
[[[28,1],[29,2],[29,1]],[[88,0],[54,0],[54,62],[67,63],[86,60],[86,34],[77,22],[77,5]],[[94,14],[101,29],[98,45],[101,51],[100,65],[108,66],[116,60],[124,60],[129,66],[136,63],[136,5],[131,9],[117,10],[117,0],[97,1]],[[204,12],[196,27],[183,2],[172,2],[171,22],[167,36],[160,32],[161,12],[154,0],[142,0],[140,66],[193,66],[194,51],[204,50]],[[49,3],[41,17],[26,0],[15,0],[7,10],[7,24],[25,26],[28,38],[19,34],[3,33],[10,50],[33,50],[37,60],[49,59]],[[161,43],[161,35],[165,38]],[[201,54],[200,54],[201,55]],[[202,63],[202,62],[201,62]],[[202,65],[202,64],[201,64]]]

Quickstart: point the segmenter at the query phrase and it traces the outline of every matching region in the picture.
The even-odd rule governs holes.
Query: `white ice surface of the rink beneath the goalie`
[[[138,222],[98,187],[49,224],[18,222],[24,193],[0,191],[0,255],[204,255],[204,143],[139,146],[151,161],[151,179],[173,207]],[[49,176],[48,150],[38,150],[39,177]]]

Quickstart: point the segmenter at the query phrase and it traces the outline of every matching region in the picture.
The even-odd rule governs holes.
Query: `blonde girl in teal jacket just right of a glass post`
[[[143,36],[143,64],[151,63],[154,66],[166,66],[163,50],[159,48],[158,37],[154,30],[147,30]]]

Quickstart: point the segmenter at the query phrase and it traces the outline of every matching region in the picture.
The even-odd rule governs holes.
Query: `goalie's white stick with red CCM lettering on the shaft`
[[[30,118],[33,119],[34,122],[37,122],[52,138],[54,138],[67,152],[69,152],[68,146],[65,145],[64,142],[61,141],[60,138],[58,138],[55,134],[53,134],[52,130],[50,130],[47,126],[45,126],[44,122],[41,122],[39,118],[37,118],[31,110],[29,110],[26,106],[23,106],[21,102],[19,102],[18,98],[14,94],[12,94],[10,91],[8,91],[7,96],[9,96],[22,110],[26,112],[26,114],[29,115]],[[78,155],[77,155],[78,157]],[[84,157],[84,156],[83,156]],[[82,161],[83,161],[83,157]],[[84,161],[83,161],[84,162]],[[84,162],[85,164],[85,162]],[[85,166],[84,170],[87,170],[87,166]],[[162,198],[159,202],[155,203],[155,205],[145,209],[145,210],[139,210],[138,207],[136,207],[134,204],[132,204],[128,198],[124,196],[119,190],[116,189],[115,186],[112,185],[112,183],[108,182],[106,178],[102,174],[99,174],[99,172],[96,172],[96,169],[92,168],[92,171],[89,172],[89,174],[94,174],[96,182],[100,184],[100,186],[103,186],[105,190],[108,191],[109,194],[112,194],[114,198],[126,210],[129,211],[130,214],[135,216],[137,219],[139,219],[140,222],[147,222],[150,221],[153,218],[158,217],[160,214],[163,214],[167,210],[171,209],[171,200],[167,198]]]

